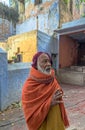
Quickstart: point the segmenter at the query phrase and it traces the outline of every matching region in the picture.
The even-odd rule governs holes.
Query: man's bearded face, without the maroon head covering
[[[39,56],[37,61],[37,69],[44,74],[51,73],[51,62],[48,55],[43,53]]]

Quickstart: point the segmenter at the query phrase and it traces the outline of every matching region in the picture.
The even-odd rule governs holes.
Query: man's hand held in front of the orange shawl
[[[63,101],[60,101],[60,98],[62,96],[62,92],[60,90],[57,90],[52,97],[51,106],[56,105],[58,103],[62,103]]]

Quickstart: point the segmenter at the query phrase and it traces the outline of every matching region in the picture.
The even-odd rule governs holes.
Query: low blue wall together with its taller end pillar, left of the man
[[[0,110],[21,100],[22,86],[29,75],[30,63],[7,63],[7,53],[0,49]]]

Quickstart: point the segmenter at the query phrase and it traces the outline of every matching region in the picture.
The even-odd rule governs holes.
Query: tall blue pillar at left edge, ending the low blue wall
[[[0,110],[8,104],[7,53],[0,48]]]

